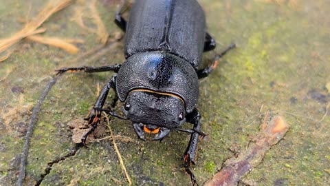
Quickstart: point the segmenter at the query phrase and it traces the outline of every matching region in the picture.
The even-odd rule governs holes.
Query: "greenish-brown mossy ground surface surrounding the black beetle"
[[[21,29],[17,19],[27,14],[28,2],[0,1],[1,38]],[[110,34],[118,32],[112,21],[115,4],[98,2],[107,30]],[[204,61],[232,41],[237,45],[221,59],[217,70],[201,81],[198,108],[203,116],[203,132],[210,139],[199,144],[197,166],[193,166],[199,183],[219,171],[226,158],[243,151],[259,131],[263,114],[272,111],[285,117],[291,129],[240,184],[329,184],[330,112],[322,119],[330,101],[329,3],[199,2],[206,12],[208,30],[218,43],[215,52],[204,55]],[[292,2],[297,2],[296,6]],[[30,15],[43,6],[43,1],[32,1]],[[43,26],[47,36],[84,39],[85,43],[79,45],[82,53],[100,42],[96,34],[71,21],[75,6],[58,12]],[[12,50],[12,56],[0,63],[0,185],[14,185],[17,180],[23,135],[32,112],[30,105],[35,104],[54,70],[124,60],[122,43],[97,61],[74,64],[66,61],[75,56],[39,43],[23,40]],[[110,77],[111,73],[65,74],[54,85],[34,127],[27,185],[39,179],[47,163],[74,147],[67,123],[85,116],[96,99],[98,83],[102,86]],[[134,143],[117,141],[134,185],[190,185],[180,159],[188,135],[172,132],[163,143],[144,143],[137,140],[129,122],[115,119],[111,126],[115,135],[135,139]],[[111,141],[88,147],[54,164],[42,185],[126,185]]]

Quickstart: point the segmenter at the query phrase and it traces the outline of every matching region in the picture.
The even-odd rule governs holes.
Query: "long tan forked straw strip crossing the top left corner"
[[[73,0],[62,0],[59,1],[56,5],[54,5],[52,1],[47,3],[47,6],[45,6],[45,8],[43,8],[43,10],[39,12],[36,17],[34,17],[34,19],[27,22],[22,30],[12,34],[12,36],[7,39],[0,40],[0,54],[5,52],[5,50],[8,50],[8,48],[10,48],[15,43],[21,41],[21,39],[25,37],[45,32],[45,28],[39,28],[41,24],[43,24],[50,16],[52,16],[52,14],[67,7],[69,3],[72,3],[72,1]],[[3,59],[5,60],[7,58]]]

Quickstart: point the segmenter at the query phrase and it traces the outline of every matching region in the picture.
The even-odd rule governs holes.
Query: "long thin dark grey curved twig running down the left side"
[[[23,185],[23,178],[25,176],[25,164],[26,164],[26,160],[28,158],[28,148],[29,148],[29,143],[30,143],[30,139],[32,136],[33,126],[36,121],[36,116],[38,115],[38,113],[40,111],[41,104],[45,100],[46,95],[48,94],[48,92],[50,92],[52,86],[56,83],[57,80],[58,80],[58,76],[55,76],[52,79],[52,81],[50,81],[50,83],[47,84],[45,90],[43,90],[43,94],[41,94],[39,99],[36,101],[36,105],[34,106],[34,109],[32,111],[31,120],[28,123],[28,131],[25,134],[23,152],[21,154],[21,165],[19,168],[19,180],[17,180],[17,185],[19,185],[19,186]]]

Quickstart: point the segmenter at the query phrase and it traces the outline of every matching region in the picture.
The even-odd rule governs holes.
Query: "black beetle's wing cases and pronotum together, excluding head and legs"
[[[204,12],[195,0],[137,0],[126,26],[117,93],[124,101],[142,88],[180,96],[186,112],[199,96],[196,70],[206,37]]]

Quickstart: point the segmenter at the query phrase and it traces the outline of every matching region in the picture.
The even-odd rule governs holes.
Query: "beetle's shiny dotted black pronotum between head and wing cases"
[[[116,81],[120,101],[124,101],[131,90],[142,88],[176,94],[185,101],[188,113],[197,104],[199,83],[194,68],[167,52],[134,54],[122,64]]]

